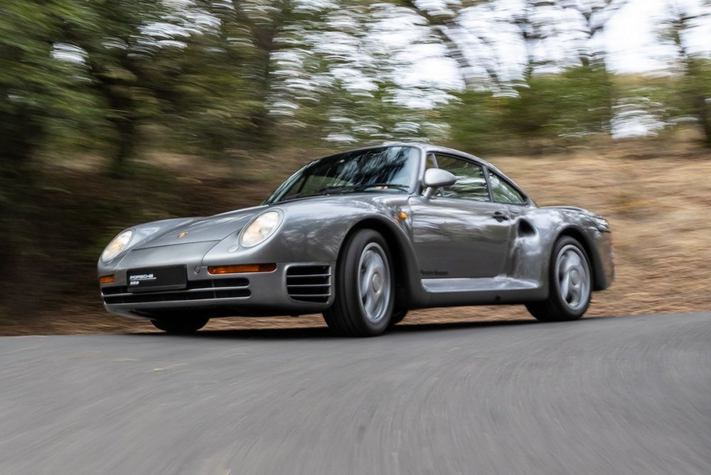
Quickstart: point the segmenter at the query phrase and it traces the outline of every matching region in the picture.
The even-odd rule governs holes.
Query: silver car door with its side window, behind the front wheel
[[[494,203],[483,166],[436,154],[428,166],[457,177],[432,198],[410,198],[412,240],[422,278],[494,277],[510,248],[508,208]]]

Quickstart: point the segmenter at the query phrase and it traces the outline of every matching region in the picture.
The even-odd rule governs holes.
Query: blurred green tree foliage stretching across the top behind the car
[[[4,0],[0,261],[10,272],[0,279],[35,262],[60,272],[70,260],[44,250],[48,233],[90,263],[113,232],[106,223],[143,216],[110,189],[143,186],[154,201],[176,201],[141,176],[136,159],[155,151],[239,169],[243,157],[287,144],[417,139],[515,153],[692,121],[711,146],[711,60],[688,44],[711,7],[670,9],[660,24],[675,50],[665,75],[621,77],[606,68],[599,36],[624,4]],[[432,80],[443,65],[452,80]],[[90,206],[55,193],[65,177],[48,161],[76,154],[109,164],[109,190]]]

